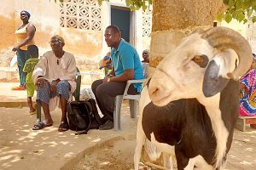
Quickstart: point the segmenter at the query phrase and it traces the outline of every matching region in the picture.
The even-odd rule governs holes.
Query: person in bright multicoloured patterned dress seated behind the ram
[[[253,54],[251,69],[239,80],[240,116],[256,116],[256,55]]]

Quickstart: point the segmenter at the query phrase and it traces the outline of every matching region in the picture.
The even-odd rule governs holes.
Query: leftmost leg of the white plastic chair
[[[120,114],[121,114],[122,102],[123,102],[122,95],[118,95],[115,97],[114,111],[113,111],[113,128],[115,131],[118,131],[121,129]]]

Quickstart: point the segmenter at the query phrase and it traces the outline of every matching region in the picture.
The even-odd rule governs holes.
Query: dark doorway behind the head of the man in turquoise
[[[130,8],[111,6],[111,25],[119,27],[126,42],[130,42],[130,12]]]

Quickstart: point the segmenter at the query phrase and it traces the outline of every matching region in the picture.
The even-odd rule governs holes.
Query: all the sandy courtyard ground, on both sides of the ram
[[[0,82],[0,169],[5,170],[127,170],[133,168],[137,119],[131,119],[127,102],[122,106],[121,128],[90,130],[75,136],[59,133],[61,111],[52,112],[53,127],[32,131],[35,115],[27,114],[26,91],[11,91],[16,83]],[[4,90],[3,90],[4,89]],[[22,105],[21,105],[22,104]],[[256,130],[236,130],[228,155],[227,170],[256,167]]]

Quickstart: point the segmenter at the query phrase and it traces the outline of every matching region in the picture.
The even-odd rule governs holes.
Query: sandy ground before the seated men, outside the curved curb
[[[127,110],[128,111],[128,110]],[[52,112],[53,127],[33,131],[35,115],[28,115],[27,107],[0,107],[0,169],[57,170],[70,169],[87,153],[104,142],[135,133],[137,119],[123,116],[123,130],[90,130],[88,134],[74,135],[73,131],[59,133],[61,111]],[[131,120],[131,121],[129,121]],[[130,131],[130,127],[133,130]],[[132,132],[132,133],[131,133]]]

